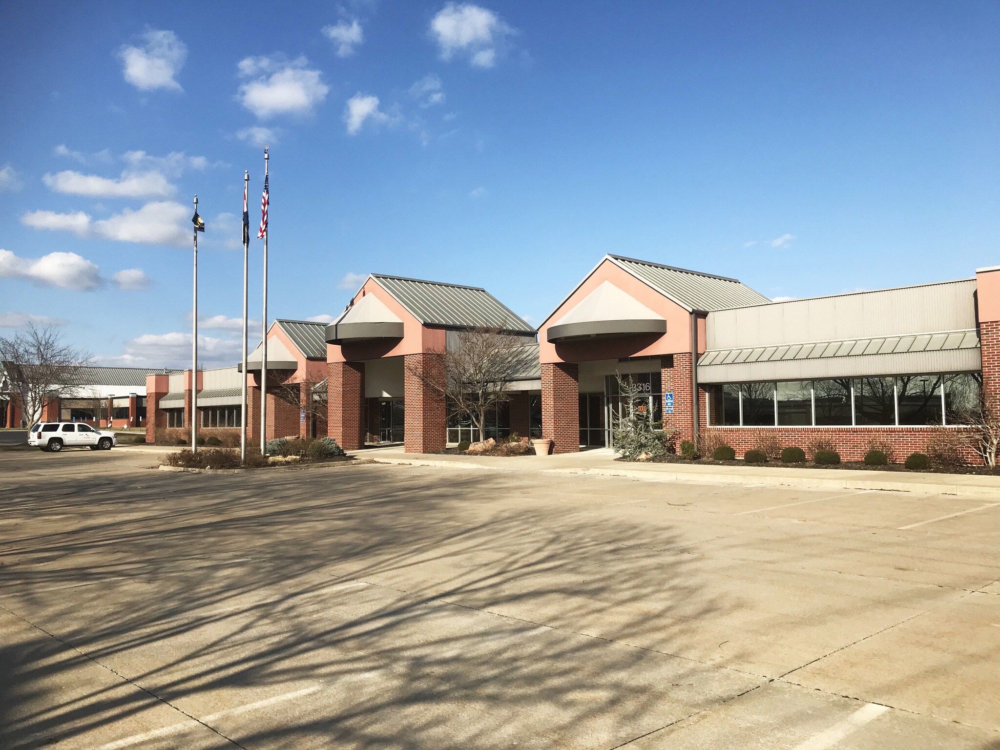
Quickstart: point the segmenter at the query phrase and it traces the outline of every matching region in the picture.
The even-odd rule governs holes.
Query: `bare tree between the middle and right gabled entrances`
[[[532,351],[523,338],[497,329],[458,331],[449,338],[444,351],[431,352],[444,357],[443,382],[412,367],[410,374],[442,394],[456,414],[468,416],[485,438],[486,415],[508,400],[511,382],[534,362]]]

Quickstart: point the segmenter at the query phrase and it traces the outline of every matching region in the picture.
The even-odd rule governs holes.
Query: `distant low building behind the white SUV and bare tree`
[[[10,365],[8,365],[10,366]],[[46,402],[42,419],[86,422],[93,427],[145,427],[146,377],[166,373],[139,367],[80,367],[70,395]],[[26,427],[20,396],[0,366],[0,427]]]

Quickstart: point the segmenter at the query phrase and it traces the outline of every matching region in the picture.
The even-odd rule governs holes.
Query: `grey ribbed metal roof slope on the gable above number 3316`
[[[738,279],[665,266],[622,255],[605,256],[688,311],[710,312],[771,302]]]

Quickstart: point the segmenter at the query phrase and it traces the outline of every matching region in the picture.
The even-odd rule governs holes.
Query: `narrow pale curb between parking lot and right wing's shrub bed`
[[[922,484],[917,482],[882,482],[872,479],[802,478],[784,476],[757,476],[751,474],[695,474],[680,471],[630,471],[628,469],[543,469],[552,474],[580,474],[586,476],[624,477],[643,482],[699,482],[703,484],[757,484],[805,489],[834,490],[883,490],[885,492],[915,492],[923,495],[949,495],[958,497],[996,498],[996,487],[977,487],[959,484]],[[846,473],[846,472],[845,472]]]

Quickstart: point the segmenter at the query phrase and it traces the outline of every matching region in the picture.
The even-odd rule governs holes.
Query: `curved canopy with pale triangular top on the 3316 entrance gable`
[[[610,281],[605,281],[580,300],[580,303],[549,326],[551,343],[582,338],[635,336],[666,333],[667,321],[629,296]]]

